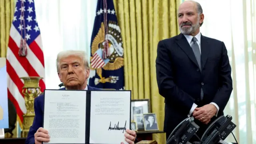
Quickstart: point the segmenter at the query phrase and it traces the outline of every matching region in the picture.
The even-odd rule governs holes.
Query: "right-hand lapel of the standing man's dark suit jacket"
[[[201,35],[201,64],[202,64],[202,69],[204,68],[204,66],[206,64],[210,49],[211,49],[211,47],[208,43],[207,38]]]

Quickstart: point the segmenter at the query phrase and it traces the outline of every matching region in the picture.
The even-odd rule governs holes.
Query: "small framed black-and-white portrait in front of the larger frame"
[[[143,121],[145,131],[159,130],[155,113],[143,114]]]

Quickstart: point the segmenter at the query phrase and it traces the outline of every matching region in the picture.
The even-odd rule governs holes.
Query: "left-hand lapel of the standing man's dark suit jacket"
[[[196,64],[196,66],[198,66],[195,54],[194,54],[190,44],[188,43],[187,39],[185,38],[185,36],[183,34],[179,34],[176,39],[177,39],[176,42],[180,46],[180,48],[186,53],[186,55],[190,58],[190,60],[192,60],[192,62],[194,62],[194,64]],[[198,66],[198,68],[199,68],[199,66]]]

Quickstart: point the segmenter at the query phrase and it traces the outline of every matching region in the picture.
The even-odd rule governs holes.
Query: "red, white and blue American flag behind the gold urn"
[[[19,51],[21,44],[26,51]],[[26,55],[20,56],[22,52]],[[44,54],[33,0],[17,0],[6,57],[8,99],[16,107],[19,122],[23,122],[26,106],[22,94],[24,82],[20,77],[44,78]],[[39,86],[41,91],[45,89],[44,79],[40,80]]]

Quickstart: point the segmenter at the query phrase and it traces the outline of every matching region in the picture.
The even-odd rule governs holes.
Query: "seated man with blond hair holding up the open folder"
[[[57,56],[56,66],[60,81],[63,82],[67,90],[100,90],[87,85],[90,68],[85,52],[74,50],[60,52]],[[42,144],[42,142],[50,141],[48,131],[42,128],[43,108],[44,94],[35,98],[35,117],[28,132],[26,144]],[[136,132],[133,130],[126,130],[126,132],[125,140],[129,144],[134,144]]]

